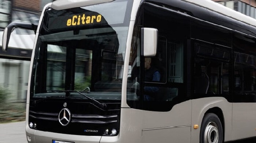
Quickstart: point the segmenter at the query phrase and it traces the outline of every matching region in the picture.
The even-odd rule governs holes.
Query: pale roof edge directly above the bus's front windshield
[[[56,0],[52,2],[51,8],[56,10],[62,10],[90,6],[94,4],[102,4],[112,1],[114,0]]]

